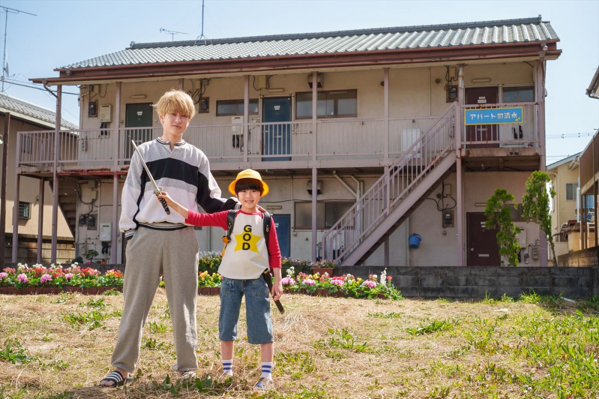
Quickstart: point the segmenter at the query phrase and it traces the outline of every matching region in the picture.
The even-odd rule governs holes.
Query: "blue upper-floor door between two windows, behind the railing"
[[[291,97],[267,97],[262,99],[264,131],[262,154],[291,154]],[[291,157],[265,157],[263,161],[289,161]]]

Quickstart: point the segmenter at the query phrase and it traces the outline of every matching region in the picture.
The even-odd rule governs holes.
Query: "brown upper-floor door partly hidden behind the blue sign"
[[[468,108],[489,108],[490,104],[498,101],[497,87],[470,87],[465,90],[466,105]],[[466,127],[467,141],[498,141],[499,125],[497,124],[475,124]],[[499,147],[494,144],[469,144],[468,147]]]

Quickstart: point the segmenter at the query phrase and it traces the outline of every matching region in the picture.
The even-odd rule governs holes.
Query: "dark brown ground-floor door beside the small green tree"
[[[485,214],[468,213],[468,266],[500,266],[497,230],[485,229]]]

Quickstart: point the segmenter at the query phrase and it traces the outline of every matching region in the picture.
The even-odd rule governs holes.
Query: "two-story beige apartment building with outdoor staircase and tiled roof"
[[[151,104],[179,87],[199,112],[184,139],[207,154],[223,193],[247,167],[267,179],[261,205],[283,255],[500,264],[482,212],[495,188],[521,198],[531,171],[544,169],[544,80],[558,41],[538,17],[132,43],[33,79],[59,92],[80,86],[81,129],[60,141],[20,133],[33,150],[19,147],[19,175],[75,181],[78,253],[122,262],[131,140],[161,135]],[[540,249],[538,226],[515,220],[522,245]],[[220,249],[222,234],[198,230],[201,248]]]

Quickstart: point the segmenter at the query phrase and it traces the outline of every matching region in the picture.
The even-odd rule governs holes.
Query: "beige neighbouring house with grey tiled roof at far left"
[[[7,127],[7,115],[10,115]],[[55,234],[57,248],[56,259],[67,261],[74,258],[74,234],[69,229],[66,216],[75,214],[75,201],[62,209],[57,209],[56,229],[53,229],[52,181],[49,179],[20,177],[19,197],[16,199],[15,165],[17,161],[17,132],[55,129],[56,114],[31,102],[0,93],[0,129],[3,141],[0,145],[0,162],[6,167],[6,215],[5,225],[0,228],[6,233],[4,259],[0,264],[13,258],[13,251],[22,263],[48,262],[52,257],[52,236]],[[67,120],[60,121],[60,129],[77,129]],[[5,131],[7,130],[7,131]],[[6,151],[4,147],[8,145]],[[25,149],[26,151],[26,149]],[[7,159],[4,160],[4,153]],[[63,187],[67,188],[67,187]],[[17,206],[15,206],[17,204]],[[15,212],[13,212],[13,209]],[[14,216],[14,218],[13,218]],[[13,243],[13,230],[17,229],[19,240]],[[41,248],[41,250],[40,250]]]

